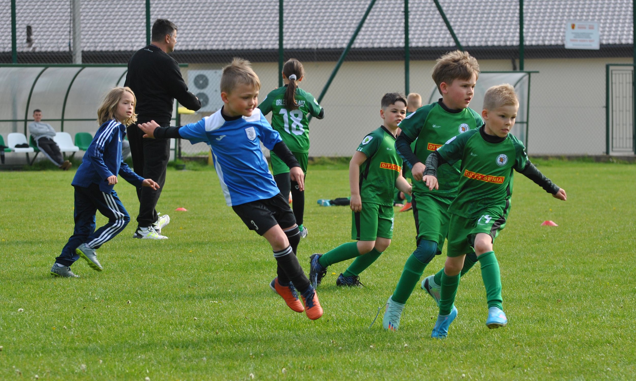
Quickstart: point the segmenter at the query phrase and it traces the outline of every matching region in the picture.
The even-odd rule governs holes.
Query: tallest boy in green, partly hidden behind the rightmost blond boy
[[[422,183],[424,161],[446,140],[483,124],[479,114],[468,108],[478,75],[477,60],[468,53],[456,50],[443,55],[432,72],[441,99],[420,107],[399,125],[402,133],[396,140],[396,149],[413,176],[411,205],[417,248],[406,260],[396,290],[387,302],[382,319],[385,330],[397,330],[404,304],[424,268],[435,255],[441,254],[450,220],[448,206],[457,195],[459,163],[440,166],[440,178],[444,182],[439,189],[429,190]],[[410,146],[413,142],[415,150]]]

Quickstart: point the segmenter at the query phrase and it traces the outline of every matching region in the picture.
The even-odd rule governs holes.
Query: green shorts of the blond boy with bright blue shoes
[[[448,257],[459,257],[474,253],[473,245],[478,233],[492,237],[492,242],[506,226],[506,216],[499,217],[496,212],[484,211],[479,218],[466,218],[451,214],[448,229]]]

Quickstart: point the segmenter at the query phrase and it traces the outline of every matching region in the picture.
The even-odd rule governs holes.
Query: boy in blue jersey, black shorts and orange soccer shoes
[[[289,177],[300,190],[305,189],[305,175],[279,133],[256,108],[260,88],[261,82],[249,61],[235,58],[223,68],[221,110],[181,127],[159,127],[155,121],[138,126],[146,133],[144,137],[183,138],[210,146],[226,203],[250,230],[265,237],[272,246],[278,276],[270,287],[293,311],[305,311],[308,318],[315,320],[322,316],[322,307],[296,258],[300,231],[287,195],[280,194],[268,170],[261,142],[289,167]]]

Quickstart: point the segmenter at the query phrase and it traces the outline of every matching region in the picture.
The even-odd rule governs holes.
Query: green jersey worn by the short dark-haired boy
[[[360,198],[363,203],[393,206],[393,189],[402,171],[396,138],[384,126],[364,137],[357,150],[367,159],[360,166]]]

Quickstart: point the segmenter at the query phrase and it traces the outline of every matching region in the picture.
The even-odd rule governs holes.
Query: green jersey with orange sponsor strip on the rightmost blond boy
[[[489,140],[500,140],[491,143]],[[438,149],[449,164],[461,161],[459,193],[448,211],[460,217],[480,217],[490,210],[505,216],[513,194],[513,170],[523,171],[528,164],[523,143],[508,134],[501,138],[485,135],[483,129],[471,130],[454,137]],[[438,177],[439,178],[439,177]],[[439,178],[440,185],[445,181]]]

